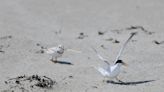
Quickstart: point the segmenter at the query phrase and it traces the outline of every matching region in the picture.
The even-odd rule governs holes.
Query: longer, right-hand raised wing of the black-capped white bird
[[[126,45],[127,45],[128,42],[130,41],[130,39],[132,39],[132,37],[133,37],[134,35],[136,35],[136,34],[137,34],[137,32],[131,33],[131,35],[130,35],[130,37],[128,38],[128,40],[127,40],[127,41],[123,44],[123,46],[121,47],[121,49],[120,49],[120,51],[119,51],[119,53],[118,53],[118,55],[117,55],[117,57],[116,57],[114,63],[116,63],[116,61],[120,58],[120,56],[121,56],[123,50],[125,49]]]

